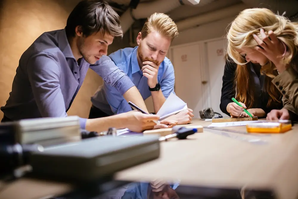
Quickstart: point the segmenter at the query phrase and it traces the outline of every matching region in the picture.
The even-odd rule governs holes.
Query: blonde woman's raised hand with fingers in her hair
[[[260,35],[263,41],[257,35],[253,35],[254,39],[259,44],[255,49],[263,53],[263,55],[276,66],[277,70],[282,73],[287,69],[287,65],[282,64],[286,52],[285,44],[275,36],[272,30],[269,30],[268,34],[266,34],[265,31],[261,29]]]

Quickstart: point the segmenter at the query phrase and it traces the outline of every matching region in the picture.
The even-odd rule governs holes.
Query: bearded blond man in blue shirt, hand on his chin
[[[166,54],[178,34],[175,22],[168,15],[153,13],[136,38],[137,47],[120,49],[109,55],[136,85],[144,100],[152,96],[155,113],[170,93],[174,92],[174,67]],[[106,82],[98,88],[91,102],[89,118],[131,111],[119,91]],[[178,124],[188,124],[193,117],[192,112],[187,109],[167,119],[178,121]]]

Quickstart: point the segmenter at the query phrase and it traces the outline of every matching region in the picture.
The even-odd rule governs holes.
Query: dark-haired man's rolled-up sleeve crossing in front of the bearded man
[[[131,79],[108,56],[103,55],[99,61],[89,67],[102,77],[108,85],[115,87],[121,95],[135,86]]]

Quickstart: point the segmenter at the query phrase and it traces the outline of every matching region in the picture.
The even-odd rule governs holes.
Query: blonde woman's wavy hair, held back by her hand
[[[256,47],[258,44],[254,40],[253,34],[262,40],[260,29],[263,29],[265,33],[272,30],[275,36],[283,41],[287,47],[287,53],[282,63],[289,64],[297,54],[298,23],[291,22],[284,16],[274,14],[266,8],[243,10],[231,23],[227,33],[229,57],[238,65],[247,64],[245,57],[236,50],[242,47]],[[276,76],[274,70],[276,67],[270,60],[261,68],[261,72],[271,78]]]

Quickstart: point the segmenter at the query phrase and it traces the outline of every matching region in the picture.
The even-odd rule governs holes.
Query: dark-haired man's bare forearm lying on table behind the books
[[[116,129],[126,128],[126,120],[122,114],[112,115],[103,118],[87,119],[86,130],[103,132],[109,128],[114,127]]]

